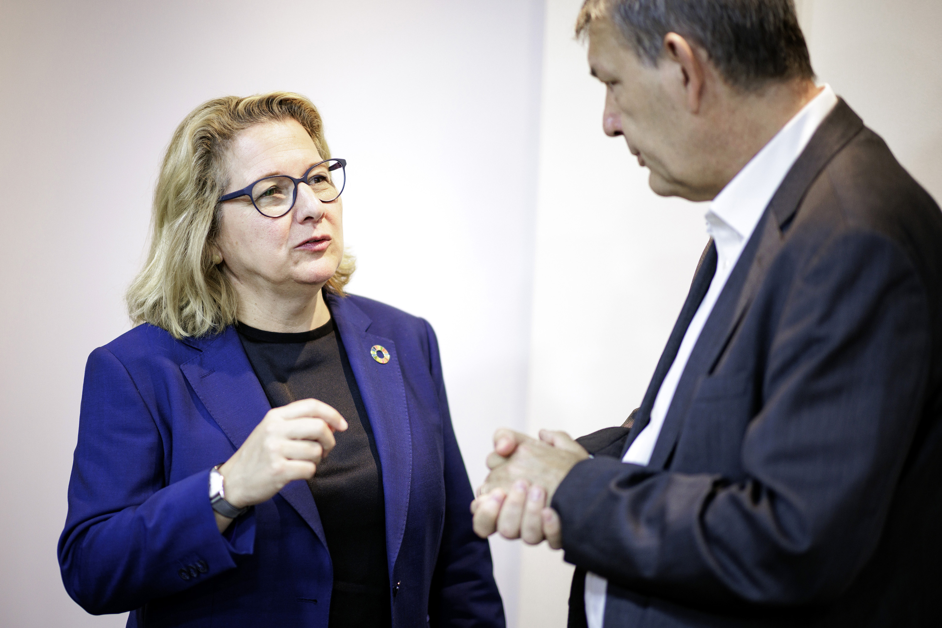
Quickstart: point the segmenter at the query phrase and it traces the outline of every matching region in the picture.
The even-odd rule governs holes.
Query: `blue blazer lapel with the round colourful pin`
[[[372,320],[349,298],[333,295],[326,295],[326,298],[340,332],[340,340],[347,350],[380,455],[385,495],[386,553],[392,577],[405,534],[413,464],[412,428],[396,343],[370,333],[368,329]],[[388,351],[389,362],[383,364],[373,359],[370,349],[376,345]]]

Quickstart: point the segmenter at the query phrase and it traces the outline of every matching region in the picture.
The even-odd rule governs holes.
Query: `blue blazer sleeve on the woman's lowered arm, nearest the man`
[[[430,625],[503,628],[504,606],[494,580],[491,546],[471,526],[474,491],[451,426],[438,340],[429,323],[423,322],[428,334],[431,375],[442,411],[445,454],[445,524],[431,581]]]

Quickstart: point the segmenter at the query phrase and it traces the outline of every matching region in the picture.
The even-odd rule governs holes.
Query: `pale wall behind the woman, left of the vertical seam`
[[[174,127],[222,94],[320,107],[349,160],[350,289],[438,331],[479,484],[495,427],[524,425],[542,28],[540,0],[0,3],[0,625],[123,623],[58,575],[82,373],[129,327]],[[495,541],[513,616],[518,553]]]

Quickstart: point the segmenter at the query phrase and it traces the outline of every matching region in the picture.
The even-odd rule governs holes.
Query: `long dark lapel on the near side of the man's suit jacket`
[[[755,233],[742,251],[739,262],[730,274],[723,287],[723,293],[717,299],[700,338],[690,353],[690,360],[677,384],[674,399],[671,401],[671,407],[668,409],[664,425],[658,435],[658,442],[648,462],[649,466],[660,468],[667,464],[686,420],[687,410],[697,383],[701,378],[712,373],[723,358],[726,348],[730,345],[736,330],[739,329],[739,324],[749,311],[755,295],[765,280],[772,260],[782,248],[784,233],[795,217],[805,193],[836,153],[846,146],[861,129],[863,129],[863,121],[843,100],[838,100],[835,109],[821,122],[802,154],[788,170],[782,185],[779,185],[772,196],[769,206],[756,226]],[[688,325],[690,318],[687,319]],[[687,326],[684,327],[684,333],[686,330]],[[681,333],[682,338],[683,333]],[[676,349],[674,349],[675,354]],[[659,368],[660,364],[658,364]],[[670,363],[667,368],[670,368]],[[665,369],[664,373],[666,372]],[[662,379],[663,376],[661,376]],[[659,386],[658,382],[658,388]],[[654,396],[657,394],[658,389],[655,389]],[[647,396],[645,395],[645,401]],[[654,404],[653,397],[651,404]]]

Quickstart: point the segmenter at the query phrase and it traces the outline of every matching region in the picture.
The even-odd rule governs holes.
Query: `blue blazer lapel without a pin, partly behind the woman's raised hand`
[[[234,327],[227,327],[218,336],[195,343],[194,346],[202,349],[203,353],[181,364],[180,370],[233,447],[238,449],[271,410],[271,404],[252,371],[252,364]],[[317,539],[327,547],[324,526],[320,523],[317,505],[307,484],[289,482],[279,494],[298,511],[314,530]]]

